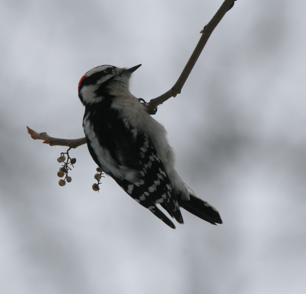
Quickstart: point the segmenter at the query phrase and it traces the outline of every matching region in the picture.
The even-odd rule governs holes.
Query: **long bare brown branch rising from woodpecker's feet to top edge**
[[[211,33],[213,32],[215,27],[218,25],[218,23],[221,21],[221,19],[226,14],[226,12],[233,6],[233,3],[234,3],[234,0],[225,0],[223,4],[221,5],[221,7],[218,9],[217,13],[211,19],[211,21],[207,25],[204,26],[204,29],[201,31],[202,36],[198,44],[196,45],[196,48],[192,52],[192,55],[190,56],[177,82],[174,84],[174,86],[169,91],[160,95],[157,98],[151,99],[150,102],[147,105],[145,105],[147,109],[149,109],[149,111],[153,111],[158,105],[162,104],[163,102],[165,102],[171,97],[176,97],[177,94],[181,93],[181,90],[192,68],[196,64],[196,61],[198,60],[205,44],[207,43],[207,40],[211,36]]]

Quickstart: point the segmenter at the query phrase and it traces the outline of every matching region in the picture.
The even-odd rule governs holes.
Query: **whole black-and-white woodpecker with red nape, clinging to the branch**
[[[80,79],[83,128],[92,158],[168,226],[175,228],[157,204],[178,223],[184,223],[180,207],[212,224],[222,223],[217,209],[196,197],[177,174],[165,128],[130,93],[129,79],[140,66],[101,65]]]

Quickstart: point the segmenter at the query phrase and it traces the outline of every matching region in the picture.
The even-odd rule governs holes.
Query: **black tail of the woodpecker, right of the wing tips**
[[[180,197],[177,199],[178,204],[200,219],[206,220],[213,225],[216,223],[222,223],[219,212],[206,201],[191,194],[190,200],[181,200],[179,198]]]

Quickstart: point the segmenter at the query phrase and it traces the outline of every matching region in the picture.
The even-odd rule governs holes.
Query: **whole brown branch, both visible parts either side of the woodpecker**
[[[204,29],[201,31],[202,36],[196,45],[196,48],[192,52],[192,55],[190,56],[187,64],[185,65],[184,70],[182,71],[180,77],[178,78],[177,82],[174,84],[174,86],[167,91],[166,93],[160,95],[159,97],[156,97],[154,99],[151,99],[149,103],[145,105],[145,107],[150,111],[154,112],[155,108],[168,100],[170,97],[176,97],[177,94],[181,93],[181,90],[192,70],[194,65],[196,64],[196,61],[198,60],[207,40],[209,39],[211,33],[215,29],[215,27],[218,25],[218,23],[221,21],[223,16],[226,14],[226,12],[233,7],[233,3],[236,0],[225,0],[217,13],[214,15],[214,17],[211,19],[211,21],[204,26]],[[28,128],[28,133],[31,135],[32,139],[36,140],[44,140],[43,143],[49,144],[50,146],[69,146],[70,148],[76,148],[80,145],[83,145],[86,143],[85,138],[80,139],[58,139],[53,138],[49,136],[47,133],[37,133],[34,130]]]

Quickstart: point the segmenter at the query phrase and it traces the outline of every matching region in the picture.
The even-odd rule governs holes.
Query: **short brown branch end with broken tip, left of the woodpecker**
[[[59,139],[49,136],[46,132],[38,133],[27,126],[28,133],[34,140],[43,140],[43,143],[49,144],[50,146],[68,146],[69,148],[76,148],[83,144],[86,144],[86,139]]]

